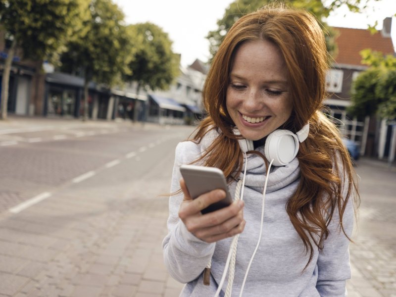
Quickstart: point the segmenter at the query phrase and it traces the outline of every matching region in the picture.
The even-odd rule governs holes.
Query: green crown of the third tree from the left
[[[129,25],[127,31],[136,35],[134,58],[128,66],[132,72],[128,81],[136,81],[138,89],[147,86],[151,90],[166,89],[179,74],[180,56],[172,51],[168,34],[150,22]]]

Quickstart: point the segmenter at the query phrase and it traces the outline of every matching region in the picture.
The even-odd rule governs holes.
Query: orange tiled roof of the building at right
[[[334,29],[339,31],[339,36],[336,37],[338,55],[335,56],[338,64],[363,65],[361,63],[362,57],[359,54],[362,49],[381,51],[384,54],[395,54],[392,39],[383,37],[380,32],[371,34],[366,29],[341,27],[334,27]]]

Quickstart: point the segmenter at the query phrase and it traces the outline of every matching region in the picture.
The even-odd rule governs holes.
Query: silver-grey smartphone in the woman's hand
[[[181,165],[180,173],[182,174],[187,189],[193,199],[215,189],[222,189],[226,192],[226,198],[202,209],[202,214],[221,209],[232,203],[226,178],[223,171],[219,168],[198,165]]]

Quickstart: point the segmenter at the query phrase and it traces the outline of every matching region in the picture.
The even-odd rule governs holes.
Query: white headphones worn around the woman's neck
[[[237,128],[235,135],[241,135]],[[304,125],[300,131],[294,134],[289,130],[275,130],[270,133],[265,140],[264,155],[268,161],[274,159],[274,166],[284,166],[290,163],[297,155],[299,143],[307,139],[309,133],[309,123]],[[253,141],[239,139],[239,146],[242,151],[254,150]]]

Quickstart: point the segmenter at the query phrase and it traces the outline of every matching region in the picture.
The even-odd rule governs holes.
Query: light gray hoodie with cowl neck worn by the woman
[[[200,144],[180,143],[176,148],[171,193],[180,189],[179,167],[196,160],[208,147],[216,133],[208,133]],[[263,148],[256,148],[263,153]],[[245,165],[244,165],[245,166]],[[239,296],[250,257],[256,246],[260,223],[262,192],[266,167],[263,159],[248,154],[244,190],[245,230],[239,237],[232,296]],[[240,178],[242,179],[241,173]],[[286,212],[286,202],[293,196],[300,180],[298,159],[286,166],[272,167],[267,185],[264,223],[260,245],[251,264],[243,296],[247,297],[341,297],[346,296],[346,280],[350,278],[349,241],[340,231],[338,211],[329,225],[330,235],[320,252],[314,247],[309,254]],[[236,182],[229,186],[235,195]],[[191,234],[178,217],[183,195],[169,199],[169,233],[163,241],[165,265],[171,276],[186,283],[181,296],[214,296],[223,274],[231,238],[205,243]],[[351,200],[351,199],[350,199]],[[353,206],[348,203],[343,219],[348,236],[353,228]],[[203,285],[202,272],[211,260],[210,286]],[[228,277],[226,278],[226,280]],[[220,296],[224,296],[227,281]]]

